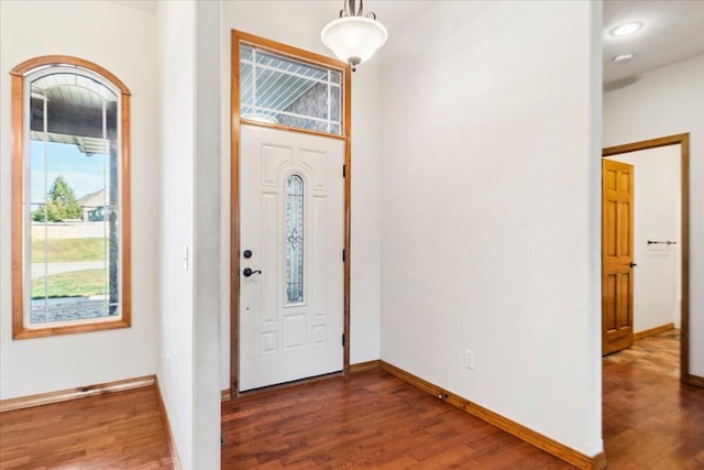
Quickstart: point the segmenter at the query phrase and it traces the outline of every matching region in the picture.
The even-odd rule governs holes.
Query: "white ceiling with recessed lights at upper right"
[[[632,35],[614,37],[609,31],[629,21],[644,26]],[[604,1],[604,84],[614,84],[644,72],[704,54],[704,0]],[[619,54],[632,53],[616,64]]]

